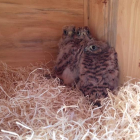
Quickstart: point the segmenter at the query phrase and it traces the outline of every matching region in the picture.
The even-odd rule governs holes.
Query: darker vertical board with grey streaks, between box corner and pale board
[[[118,0],[89,0],[89,28],[92,35],[107,41],[111,47],[116,44]]]

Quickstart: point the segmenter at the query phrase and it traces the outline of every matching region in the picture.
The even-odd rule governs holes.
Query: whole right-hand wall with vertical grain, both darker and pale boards
[[[88,0],[87,5],[93,36],[118,52],[120,83],[140,79],[140,1]]]

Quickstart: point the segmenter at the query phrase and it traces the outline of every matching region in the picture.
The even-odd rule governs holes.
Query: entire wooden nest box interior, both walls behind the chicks
[[[120,82],[140,78],[139,0],[0,0],[0,60],[55,60],[64,25],[89,26],[118,52]]]

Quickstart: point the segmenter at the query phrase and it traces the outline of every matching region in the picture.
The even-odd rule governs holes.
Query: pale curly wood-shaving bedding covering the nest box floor
[[[45,65],[0,65],[0,139],[139,140],[140,83],[93,107],[78,89],[46,79]]]

